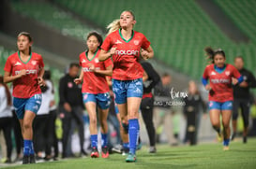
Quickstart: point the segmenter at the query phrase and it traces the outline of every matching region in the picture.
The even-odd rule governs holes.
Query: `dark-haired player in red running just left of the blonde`
[[[92,158],[98,158],[98,130],[97,130],[97,107],[101,130],[101,156],[108,158],[107,147],[108,134],[108,112],[111,103],[110,89],[105,76],[112,76],[113,63],[111,59],[104,62],[98,61],[98,54],[102,44],[102,37],[96,32],[87,36],[88,50],[80,54],[80,64],[82,66],[81,75],[74,81],[80,84],[83,80],[83,103],[89,114],[90,134],[92,146]]]

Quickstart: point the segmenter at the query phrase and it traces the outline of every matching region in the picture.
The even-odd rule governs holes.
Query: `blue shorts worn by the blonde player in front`
[[[128,97],[143,97],[143,78],[133,80],[113,79],[113,95],[116,104],[127,103]]]

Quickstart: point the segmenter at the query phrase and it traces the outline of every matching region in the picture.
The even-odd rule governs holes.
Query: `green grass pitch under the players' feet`
[[[223,151],[221,143],[201,144],[194,147],[169,147],[158,145],[157,154],[149,154],[148,148],[137,151],[137,162],[127,163],[124,156],[113,154],[109,159],[69,159],[57,162],[41,162],[28,165],[11,165],[11,169],[179,169],[179,168],[251,168],[256,169],[256,139],[231,142],[230,150]]]

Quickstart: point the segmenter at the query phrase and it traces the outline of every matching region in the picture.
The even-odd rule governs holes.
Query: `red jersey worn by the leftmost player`
[[[11,76],[26,70],[26,75],[13,81],[12,95],[17,98],[30,98],[41,93],[38,85],[38,71],[44,67],[41,55],[32,52],[26,63],[21,60],[19,51],[8,57],[4,70]]]

